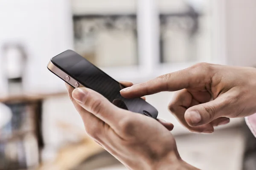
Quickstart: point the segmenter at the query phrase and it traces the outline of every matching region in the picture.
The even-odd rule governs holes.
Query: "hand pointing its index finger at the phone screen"
[[[189,131],[212,133],[229,118],[256,113],[256,69],[199,63],[125,88],[122,96],[177,91],[169,110]]]

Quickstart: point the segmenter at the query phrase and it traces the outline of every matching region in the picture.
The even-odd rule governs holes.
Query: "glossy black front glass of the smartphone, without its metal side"
[[[140,110],[140,98],[125,99],[122,97],[119,91],[125,87],[79,54],[73,51],[67,53],[66,51],[65,55],[54,57],[52,61],[58,63],[60,68],[64,69],[67,74],[82,85],[102,94],[114,105],[130,111],[133,111],[135,108],[137,111]]]

